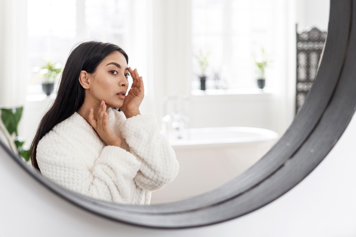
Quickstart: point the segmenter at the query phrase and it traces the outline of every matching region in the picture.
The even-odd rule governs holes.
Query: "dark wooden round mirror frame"
[[[349,124],[356,107],[355,13],[356,0],[331,0],[328,36],[319,71],[293,123],[254,166],[208,193],[151,206],[106,203],[59,187],[1,142],[0,145],[52,192],[108,219],[141,227],[174,229],[212,225],[243,216],[276,200],[308,176]]]

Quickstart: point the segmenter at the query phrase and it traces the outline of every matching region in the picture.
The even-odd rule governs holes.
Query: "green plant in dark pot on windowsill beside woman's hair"
[[[51,95],[57,75],[61,72],[61,64],[47,61],[40,70],[42,76],[42,90],[47,96]]]

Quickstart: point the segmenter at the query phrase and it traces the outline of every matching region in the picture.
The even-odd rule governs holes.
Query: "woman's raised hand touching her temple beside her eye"
[[[143,88],[142,76],[139,76],[137,69],[132,70],[129,68],[129,72],[132,77],[132,85],[129,93],[124,99],[124,103],[120,107],[120,110],[124,112],[126,118],[131,118],[140,114],[140,104],[145,96],[145,90]]]

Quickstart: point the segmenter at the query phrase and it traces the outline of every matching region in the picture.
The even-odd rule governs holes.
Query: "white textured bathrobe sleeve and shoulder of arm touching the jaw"
[[[85,158],[90,151],[78,143],[53,131],[44,136],[37,146],[43,176],[91,198],[135,204],[140,198],[133,181],[141,166],[137,158],[120,147],[104,146],[94,166],[89,167]]]

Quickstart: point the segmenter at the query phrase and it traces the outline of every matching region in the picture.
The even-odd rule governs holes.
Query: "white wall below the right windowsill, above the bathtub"
[[[273,93],[240,95],[197,95],[190,99],[192,128],[252,126],[277,130]]]

